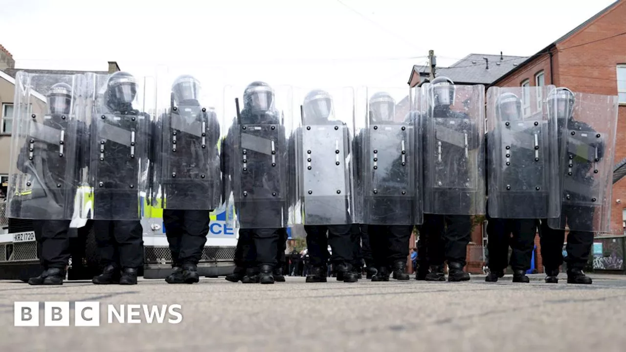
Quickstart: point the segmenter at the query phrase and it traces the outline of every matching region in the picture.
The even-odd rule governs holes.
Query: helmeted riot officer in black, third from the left
[[[172,253],[170,284],[198,282],[197,265],[207,242],[209,212],[221,204],[217,143],[220,123],[202,106],[200,81],[182,75],[172,83],[171,106],[158,125],[163,224]]]

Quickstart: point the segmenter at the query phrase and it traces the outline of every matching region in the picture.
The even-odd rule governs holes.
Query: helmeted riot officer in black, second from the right
[[[499,88],[492,89],[498,91]],[[550,155],[550,148],[556,146],[553,141],[556,124],[550,124],[540,112],[525,120],[521,100],[511,91],[501,93],[495,100],[495,116],[488,116],[488,120],[491,118],[495,123],[486,135],[490,195],[486,231],[490,273],[485,281],[495,282],[504,276],[511,246],[513,282],[530,282],[526,271],[530,269],[533,254],[538,224],[535,217],[548,215],[550,192],[554,193],[557,188],[545,185],[546,176],[557,177],[556,168],[548,167],[549,163],[557,162]],[[533,142],[533,135],[536,142]],[[550,170],[555,174],[550,174]]]

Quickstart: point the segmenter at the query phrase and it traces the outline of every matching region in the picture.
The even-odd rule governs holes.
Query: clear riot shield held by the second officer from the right
[[[488,215],[541,219],[560,214],[557,119],[546,93],[554,86],[487,91]]]

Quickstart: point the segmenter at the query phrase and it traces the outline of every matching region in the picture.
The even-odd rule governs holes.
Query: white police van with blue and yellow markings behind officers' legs
[[[20,196],[28,197],[28,194]],[[75,202],[77,205],[82,202],[85,206],[76,206],[74,209],[90,209],[92,197],[89,187],[81,187]],[[0,232],[0,279],[28,281],[29,277],[38,276],[43,270],[39,264],[32,220],[7,219],[7,205],[6,202],[0,204],[0,224],[6,224]],[[144,215],[141,219],[145,253],[143,277],[165,278],[171,272],[172,257],[163,226],[163,209],[151,206],[145,197],[142,197],[141,206],[141,214]],[[227,209],[222,205],[220,209],[210,213],[207,243],[198,263],[200,275],[216,277],[233,271],[238,229],[226,224],[226,212]],[[87,220],[89,214],[83,215],[86,216],[81,217],[78,210],[74,212],[70,224],[71,259],[68,280],[90,280],[100,274],[95,237],[91,221]]]

